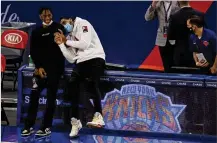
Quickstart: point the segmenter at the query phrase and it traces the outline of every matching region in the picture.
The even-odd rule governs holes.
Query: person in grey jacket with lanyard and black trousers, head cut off
[[[165,72],[171,72],[173,66],[173,46],[174,41],[168,41],[167,32],[169,26],[170,15],[179,10],[177,1],[155,1],[146,11],[145,20],[154,20],[156,17],[159,21],[159,28],[157,30],[157,38],[155,44],[159,46],[161,58],[164,65]]]

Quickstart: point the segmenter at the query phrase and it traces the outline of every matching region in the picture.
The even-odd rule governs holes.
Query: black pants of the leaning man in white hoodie
[[[104,74],[105,61],[101,58],[91,59],[76,64],[67,86],[67,96],[71,96],[72,117],[83,120],[88,113],[90,96],[87,92],[86,80],[90,80],[93,85],[94,110],[102,114],[101,93],[99,90],[100,76]],[[79,107],[80,105],[80,107]]]

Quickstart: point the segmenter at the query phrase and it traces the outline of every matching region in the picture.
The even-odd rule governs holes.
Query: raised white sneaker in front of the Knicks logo
[[[88,127],[96,127],[96,128],[102,128],[105,126],[105,122],[103,120],[102,115],[99,112],[96,112],[93,116],[92,122],[87,123]]]

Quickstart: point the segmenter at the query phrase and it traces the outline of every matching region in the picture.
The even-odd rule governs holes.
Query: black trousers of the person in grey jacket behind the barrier
[[[174,53],[174,46],[171,45],[168,41],[164,47],[159,46],[161,59],[164,66],[164,72],[170,73],[171,67],[173,66],[173,53]]]

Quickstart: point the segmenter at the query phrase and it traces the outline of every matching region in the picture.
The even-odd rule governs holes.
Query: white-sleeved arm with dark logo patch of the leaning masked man
[[[85,50],[87,49],[91,44],[91,25],[88,22],[84,22],[80,25],[78,25],[78,37],[77,41],[67,40],[66,45],[76,49]]]

